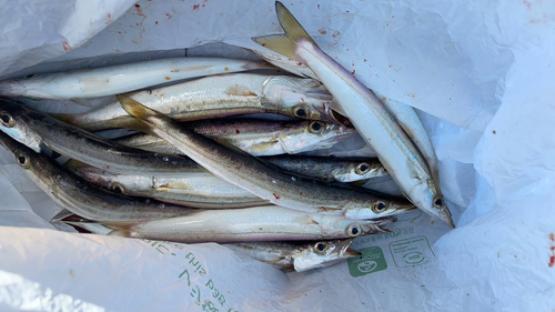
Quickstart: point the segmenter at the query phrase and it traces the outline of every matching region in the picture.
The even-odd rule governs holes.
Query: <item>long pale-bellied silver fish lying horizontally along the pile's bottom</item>
[[[336,214],[306,213],[278,205],[198,210],[183,217],[107,225],[109,235],[181,243],[236,243],[349,239],[386,233],[395,219],[349,220]]]

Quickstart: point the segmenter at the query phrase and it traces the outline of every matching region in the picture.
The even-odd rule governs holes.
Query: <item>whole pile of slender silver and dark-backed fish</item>
[[[274,69],[266,62],[178,58],[1,81],[0,144],[67,210],[57,219],[81,231],[216,242],[282,270],[359,256],[354,238],[387,232],[416,208],[454,227],[414,109],[382,104],[280,2],[276,11],[285,33],[253,38],[272,50],[258,53],[303,78],[256,73]],[[13,99],[115,94],[78,114]],[[253,118],[270,114],[289,119]],[[138,132],[92,133],[110,129]],[[297,155],[355,133],[379,160]],[[405,198],[351,183],[384,175]]]

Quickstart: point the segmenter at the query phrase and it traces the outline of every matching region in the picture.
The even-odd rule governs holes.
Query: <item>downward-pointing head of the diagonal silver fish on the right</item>
[[[432,180],[430,180],[430,184],[421,183],[413,188],[410,198],[417,208],[427,214],[438,218],[445,225],[452,229],[455,228],[451,211],[442,194],[435,191]]]

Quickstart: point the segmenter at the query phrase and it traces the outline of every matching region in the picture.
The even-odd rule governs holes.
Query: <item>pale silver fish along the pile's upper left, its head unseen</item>
[[[274,69],[266,62],[224,58],[169,58],[0,81],[0,94],[71,100],[127,93],[183,79]]]

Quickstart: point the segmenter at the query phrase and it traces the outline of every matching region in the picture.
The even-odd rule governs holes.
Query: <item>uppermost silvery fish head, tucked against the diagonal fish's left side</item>
[[[264,101],[280,114],[304,120],[340,123],[330,107],[333,97],[314,79],[272,77],[264,82]]]

